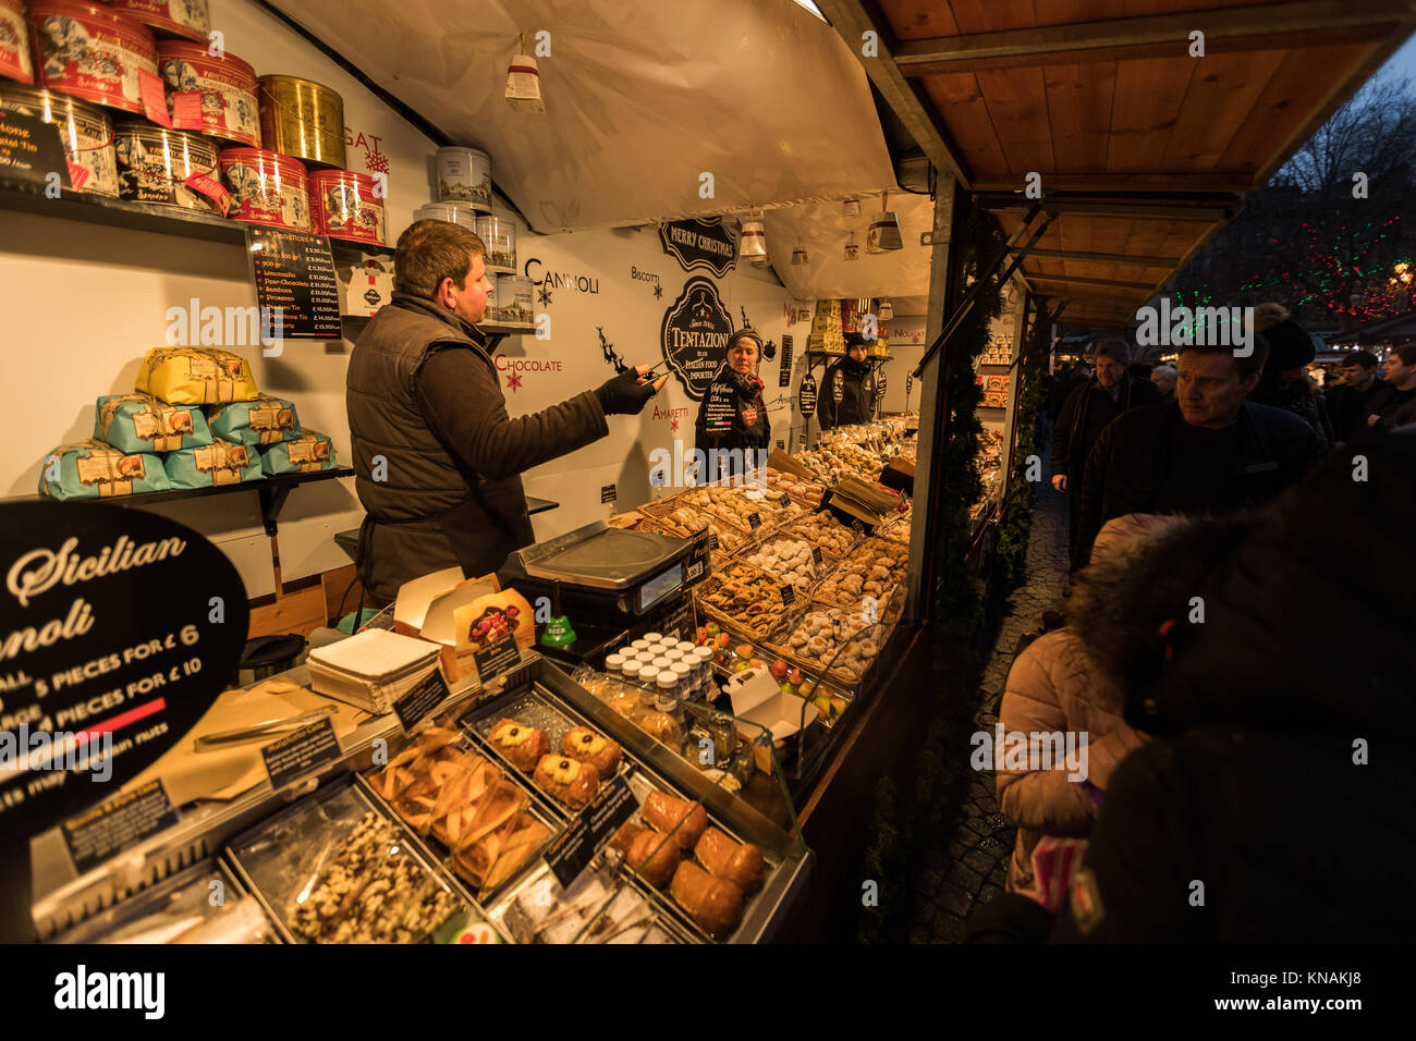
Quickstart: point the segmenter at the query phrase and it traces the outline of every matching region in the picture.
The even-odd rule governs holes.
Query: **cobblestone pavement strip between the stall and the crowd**
[[[1048,443],[1048,439],[1042,439]],[[1046,456],[1044,455],[1044,465]],[[1003,684],[1012,667],[1012,652],[1024,633],[1035,629],[1042,612],[1062,598],[1068,574],[1066,496],[1044,477],[1034,499],[1028,537],[1027,581],[1008,598],[993,654],[984,670],[981,705],[974,714],[978,729],[998,722]],[[978,904],[1003,892],[1017,829],[998,809],[993,770],[969,782],[953,834],[943,834],[929,848],[913,880],[910,943],[960,943],[964,922]]]

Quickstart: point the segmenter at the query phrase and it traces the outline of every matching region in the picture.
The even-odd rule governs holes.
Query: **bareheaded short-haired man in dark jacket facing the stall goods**
[[[1223,513],[1277,497],[1317,460],[1313,429],[1291,412],[1245,401],[1267,358],[1185,346],[1174,402],[1117,416],[1086,465],[1076,541],[1086,559],[1102,525],[1127,513]]]

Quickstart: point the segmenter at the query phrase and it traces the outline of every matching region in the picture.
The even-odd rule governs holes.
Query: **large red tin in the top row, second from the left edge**
[[[143,23],[81,0],[34,0],[30,37],[41,86],[143,112],[137,74],[157,75],[157,42]]]

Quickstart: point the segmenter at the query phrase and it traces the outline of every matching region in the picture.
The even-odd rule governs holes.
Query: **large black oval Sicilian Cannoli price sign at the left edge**
[[[236,671],[248,608],[227,557],[159,514],[7,503],[0,531],[0,826],[11,840],[0,844],[0,940],[13,942],[33,931],[28,837],[109,803],[190,744]],[[143,821],[105,848],[140,840]]]

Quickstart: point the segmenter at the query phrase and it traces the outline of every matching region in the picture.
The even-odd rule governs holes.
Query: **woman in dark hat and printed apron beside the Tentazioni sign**
[[[695,446],[704,450],[709,482],[756,467],[758,450],[766,452],[772,443],[762,380],[758,378],[760,361],[762,337],[750,329],[739,329],[728,340],[728,358],[698,405]],[[733,455],[724,456],[724,452]]]

